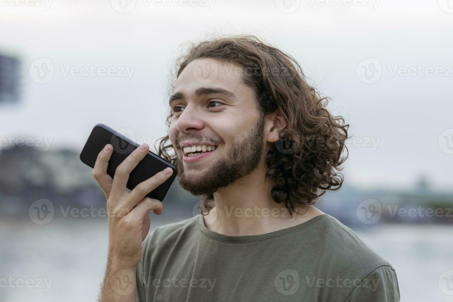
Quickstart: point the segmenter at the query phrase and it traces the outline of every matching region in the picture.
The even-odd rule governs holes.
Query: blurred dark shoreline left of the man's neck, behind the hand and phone
[[[106,206],[105,196],[92,176],[92,168],[80,161],[79,151],[43,151],[14,146],[0,152],[0,215],[28,216],[39,199],[53,205],[76,208]],[[163,201],[174,216],[192,215],[196,198],[173,182]]]

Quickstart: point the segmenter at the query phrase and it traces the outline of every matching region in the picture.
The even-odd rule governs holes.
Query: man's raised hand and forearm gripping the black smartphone
[[[135,149],[116,168],[113,179],[107,174],[113,152],[111,144],[107,144],[98,154],[94,165],[93,176],[106,196],[109,225],[107,269],[101,301],[135,301],[135,270],[141,259],[142,242],[149,231],[149,211],[162,214],[162,202],[145,196],[173,173],[171,168],[166,168],[128,193],[126,184],[129,174],[148,151],[148,144]],[[167,170],[169,174],[165,174]],[[123,281],[125,284],[121,286]],[[128,284],[134,287],[133,292],[130,292],[130,287],[127,289]]]

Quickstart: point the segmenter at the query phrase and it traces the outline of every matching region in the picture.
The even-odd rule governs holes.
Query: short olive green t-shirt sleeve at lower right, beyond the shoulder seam
[[[361,301],[399,302],[400,288],[395,269],[388,265],[374,269],[354,287],[345,300]]]

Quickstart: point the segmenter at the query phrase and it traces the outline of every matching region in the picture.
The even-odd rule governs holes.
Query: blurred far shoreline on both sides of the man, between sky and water
[[[0,214],[27,216],[29,206],[48,199],[54,206],[105,207],[103,192],[92,177],[92,168],[80,161],[79,151],[43,151],[36,147],[14,146],[0,152]],[[357,217],[357,207],[366,200],[381,207],[379,223],[453,223],[452,192],[431,191],[427,177],[420,177],[412,190],[358,189],[343,184],[327,192],[317,207],[345,225],[366,226]],[[166,216],[190,217],[198,199],[173,182],[163,203]],[[440,209],[442,216],[425,215]],[[400,213],[403,213],[401,215]],[[409,214],[404,214],[409,213]],[[412,213],[412,214],[411,214]],[[415,213],[415,215],[413,215]],[[421,214],[419,214],[421,213]]]

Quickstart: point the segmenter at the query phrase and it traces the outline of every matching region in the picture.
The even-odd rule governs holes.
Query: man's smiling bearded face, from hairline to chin
[[[242,69],[213,59],[192,61],[178,77],[170,107],[170,140],[178,155],[178,182],[193,195],[212,194],[250,174],[264,150],[264,119]],[[192,156],[191,146],[202,146]],[[215,146],[204,151],[203,145]]]

